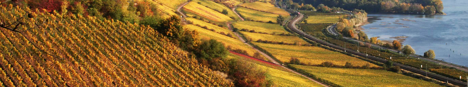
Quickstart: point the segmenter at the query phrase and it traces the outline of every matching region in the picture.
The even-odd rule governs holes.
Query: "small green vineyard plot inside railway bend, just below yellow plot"
[[[313,32],[313,31],[322,31],[324,28],[333,25],[332,23],[328,24],[300,24],[299,27],[302,31]]]

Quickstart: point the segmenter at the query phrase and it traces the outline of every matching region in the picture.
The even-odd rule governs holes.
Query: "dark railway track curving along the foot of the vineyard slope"
[[[326,46],[329,46],[329,47],[332,47],[332,48],[335,48],[337,50],[346,50],[346,52],[348,53],[351,53],[353,55],[357,55],[357,56],[363,56],[363,57],[366,57],[366,58],[369,58],[369,59],[372,59],[372,60],[375,60],[375,61],[378,61],[378,62],[387,62],[387,60],[385,59],[382,59],[382,58],[379,58],[379,57],[375,57],[375,56],[367,56],[367,54],[363,54],[363,53],[360,53],[360,52],[357,52],[357,51],[354,51],[354,50],[349,50],[349,49],[344,49],[343,47],[340,47],[340,46],[336,46],[334,44],[330,44],[328,42],[325,42],[325,41],[322,41],[320,39],[317,39],[315,37],[312,37],[306,33],[304,33],[303,31],[300,31],[297,27],[296,27],[296,23],[302,19],[304,17],[303,14],[300,14],[299,16],[297,16],[295,19],[293,19],[289,24],[288,24],[288,27],[296,32],[297,34],[300,34],[304,37],[306,37],[307,39],[310,39],[310,40],[313,40],[317,43],[320,43],[320,44],[323,44],[323,45],[326,45]],[[442,75],[437,75],[437,74],[433,74],[433,73],[430,73],[430,72],[426,72],[426,71],[423,71],[423,70],[420,70],[420,69],[417,69],[417,68],[412,68],[412,67],[409,67],[409,66],[406,66],[406,65],[403,65],[403,64],[400,64],[400,63],[394,63],[395,66],[401,66],[402,69],[405,69],[405,70],[408,70],[408,71],[411,71],[411,72],[414,72],[414,73],[417,73],[417,74],[420,74],[420,75],[427,75],[428,77],[431,77],[433,79],[437,79],[439,81],[446,81],[446,82],[449,82],[453,85],[457,85],[457,86],[461,86],[461,87],[464,87],[467,85],[467,83],[465,82],[462,82],[462,81],[458,81],[458,80],[454,80],[454,79],[451,79],[451,78],[448,78],[448,77],[445,77],[445,76],[442,76]]]

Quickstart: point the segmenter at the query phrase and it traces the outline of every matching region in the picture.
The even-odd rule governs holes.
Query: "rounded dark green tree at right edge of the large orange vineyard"
[[[228,50],[221,42],[210,39],[203,41],[194,53],[199,58],[209,61],[213,58],[226,58]]]

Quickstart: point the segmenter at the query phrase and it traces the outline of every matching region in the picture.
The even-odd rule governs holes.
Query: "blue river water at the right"
[[[468,0],[442,0],[447,15],[368,14],[369,37],[395,40],[404,36],[416,54],[434,50],[436,59],[468,66]]]

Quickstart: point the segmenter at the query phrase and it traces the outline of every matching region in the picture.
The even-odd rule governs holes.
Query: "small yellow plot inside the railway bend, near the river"
[[[316,16],[308,16],[306,20],[308,24],[336,23],[338,22],[338,20],[340,20],[340,18],[344,16],[345,15],[316,15]]]

